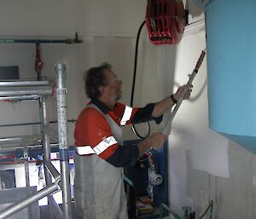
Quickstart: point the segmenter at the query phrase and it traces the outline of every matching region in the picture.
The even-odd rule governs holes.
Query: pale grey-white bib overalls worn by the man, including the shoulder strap
[[[123,131],[113,119],[94,104],[104,115],[116,141],[122,145]],[[76,209],[83,219],[128,219],[123,168],[108,164],[96,154],[79,156],[74,153]]]

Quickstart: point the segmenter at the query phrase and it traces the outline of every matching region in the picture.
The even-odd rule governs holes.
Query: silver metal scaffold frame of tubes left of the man
[[[0,139],[2,143],[17,143],[23,144],[24,164],[26,171],[26,186],[29,187],[28,176],[28,160],[27,147],[30,141],[41,142],[44,150],[44,174],[46,187],[38,191],[32,196],[26,197],[13,205],[9,205],[6,209],[0,211],[0,219],[7,218],[16,212],[28,208],[30,205],[37,202],[39,199],[48,197],[48,205],[51,218],[71,219],[71,190],[70,190],[70,176],[69,176],[69,153],[67,146],[67,88],[66,88],[66,66],[64,64],[55,65],[55,92],[49,85],[48,81],[12,81],[0,82],[0,101],[23,101],[23,100],[38,100],[41,118],[41,139],[40,136],[19,136],[8,137]],[[59,153],[61,162],[61,173],[55,169],[55,166],[50,162],[50,141],[48,120],[46,113],[46,97],[55,93],[57,99],[57,115],[58,115],[58,140]],[[1,151],[1,148],[0,148]],[[51,176],[54,177],[55,182],[52,183]],[[62,191],[62,209],[56,204],[53,194],[55,191]],[[30,219],[30,218],[29,218]]]

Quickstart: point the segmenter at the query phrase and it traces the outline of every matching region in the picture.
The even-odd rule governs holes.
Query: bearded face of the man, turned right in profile
[[[108,95],[113,101],[119,101],[122,97],[122,81],[119,80],[112,70],[105,70],[104,73],[108,78]]]

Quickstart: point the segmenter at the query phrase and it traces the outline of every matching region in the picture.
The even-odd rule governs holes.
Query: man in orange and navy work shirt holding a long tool
[[[157,133],[137,146],[122,147],[120,125],[161,120],[181,97],[186,86],[163,101],[143,108],[119,103],[122,81],[108,63],[86,72],[85,91],[91,99],[76,122],[75,182],[76,208],[83,219],[127,219],[123,167],[134,165],[150,147],[158,149],[166,135]],[[191,89],[187,89],[185,99]]]

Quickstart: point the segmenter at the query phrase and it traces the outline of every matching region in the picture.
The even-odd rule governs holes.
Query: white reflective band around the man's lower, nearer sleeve
[[[103,138],[103,140],[96,145],[96,147],[91,148],[90,146],[76,146],[76,151],[79,155],[87,155],[96,153],[99,155],[104,152],[108,147],[117,144],[117,141],[113,136],[109,136],[108,138]]]

